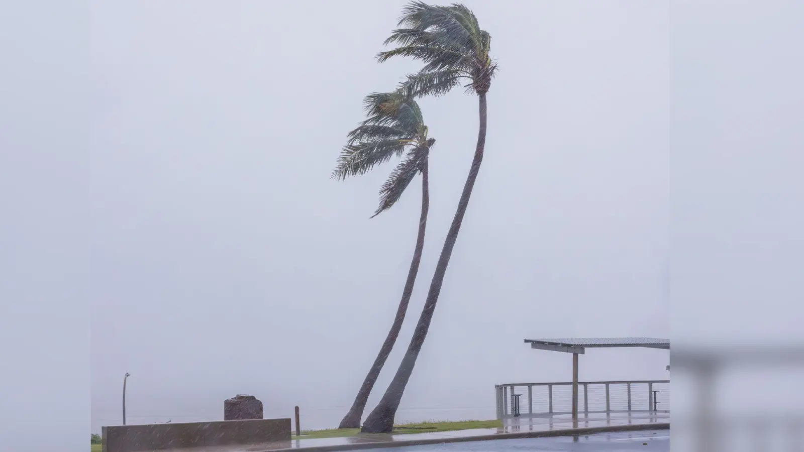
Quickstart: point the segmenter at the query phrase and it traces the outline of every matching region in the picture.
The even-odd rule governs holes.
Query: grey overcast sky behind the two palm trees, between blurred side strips
[[[252,393],[334,426],[396,310],[414,183],[329,179],[404,2],[92,3],[92,429],[222,416]],[[670,334],[667,2],[467,0],[492,35],[486,158],[400,417],[494,415],[492,387],[567,380],[526,337]],[[477,137],[477,99],[421,101],[427,244],[378,400],[418,317]],[[617,365],[610,365],[614,360]],[[662,379],[667,351],[594,351],[582,379]],[[371,404],[370,404],[371,405]],[[449,409],[453,409],[450,411]],[[463,409],[455,410],[455,409]],[[441,411],[439,411],[441,410]]]

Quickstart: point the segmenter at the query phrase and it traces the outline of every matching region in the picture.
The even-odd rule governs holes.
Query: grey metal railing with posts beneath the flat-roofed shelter
[[[572,414],[572,383],[494,386],[497,418]],[[670,380],[579,381],[578,413],[670,413]]]

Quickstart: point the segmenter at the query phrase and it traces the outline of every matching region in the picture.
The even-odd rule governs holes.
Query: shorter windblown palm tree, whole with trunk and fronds
[[[404,92],[372,93],[364,101],[368,119],[363,121],[357,129],[352,130],[348,137],[347,146],[338,158],[338,166],[333,172],[334,179],[345,179],[348,175],[362,175],[371,170],[376,164],[386,162],[394,156],[402,156],[402,161],[396,166],[379,191],[379,208],[374,216],[391,208],[412,179],[421,173],[421,215],[419,219],[419,232],[416,236],[416,248],[408,270],[408,279],[405,281],[400,304],[396,308],[396,316],[388,331],[383,346],[371,364],[371,368],[363,380],[363,384],[355,397],[347,415],[338,426],[340,429],[357,428],[363,417],[368,396],[383,369],[385,360],[391,353],[396,338],[399,337],[408,302],[416,283],[416,274],[419,271],[422,249],[425,246],[425,228],[429,210],[428,187],[428,158],[429,150],[435,143],[428,138],[428,128],[421,116],[421,109],[411,97],[405,97]],[[374,217],[372,216],[372,218]]]

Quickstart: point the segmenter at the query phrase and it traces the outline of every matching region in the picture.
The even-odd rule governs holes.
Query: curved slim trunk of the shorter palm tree
[[[413,286],[416,283],[416,274],[419,273],[421,253],[425,248],[425,228],[427,226],[427,214],[430,208],[428,171],[428,158],[425,158],[421,168],[421,216],[419,219],[419,234],[416,236],[416,249],[413,251],[413,259],[410,263],[410,269],[408,270],[408,279],[404,283],[404,290],[402,290],[400,306],[396,308],[396,317],[391,326],[391,331],[388,331],[388,336],[385,338],[383,347],[380,347],[379,354],[377,354],[374,364],[371,364],[371,369],[369,369],[365,380],[363,380],[363,384],[357,392],[355,402],[352,404],[347,415],[343,417],[343,421],[338,425],[338,429],[356,429],[360,426],[360,419],[363,417],[363,409],[366,408],[368,395],[377,382],[379,372],[383,370],[385,360],[388,360],[388,355],[391,354],[394,343],[396,343],[396,338],[400,335],[404,316],[408,310],[408,302],[410,302],[410,297],[413,294]]]

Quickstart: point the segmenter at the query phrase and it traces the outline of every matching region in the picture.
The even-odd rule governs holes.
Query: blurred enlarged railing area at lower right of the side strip
[[[674,415],[671,450],[804,450],[804,344],[740,342],[671,351],[674,392],[691,402]]]

